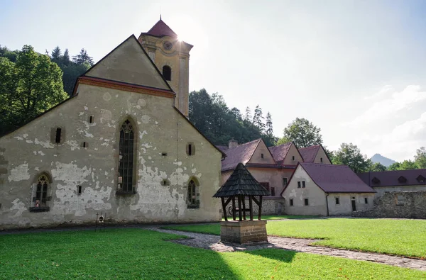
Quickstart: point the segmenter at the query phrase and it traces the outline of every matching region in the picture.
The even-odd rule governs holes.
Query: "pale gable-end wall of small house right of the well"
[[[297,188],[297,181],[305,181],[305,188]],[[327,215],[327,204],[324,191],[315,184],[302,166],[298,166],[287,188],[283,192],[285,213],[288,215]],[[293,198],[293,206],[290,199]],[[305,206],[305,198],[309,206]]]

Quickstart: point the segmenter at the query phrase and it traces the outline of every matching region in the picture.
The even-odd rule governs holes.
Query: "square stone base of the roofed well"
[[[268,242],[266,220],[228,220],[220,222],[222,242],[238,244]]]

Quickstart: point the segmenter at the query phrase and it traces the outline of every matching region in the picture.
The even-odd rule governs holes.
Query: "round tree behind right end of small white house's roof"
[[[371,165],[371,160],[366,155],[362,155],[356,145],[342,143],[337,152],[334,153],[333,164],[342,164],[350,167],[354,172],[367,172]]]

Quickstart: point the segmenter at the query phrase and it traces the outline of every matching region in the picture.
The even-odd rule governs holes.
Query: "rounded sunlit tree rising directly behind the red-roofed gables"
[[[296,118],[287,128],[284,128],[284,136],[278,140],[278,143],[294,141],[299,148],[322,145],[320,131],[320,128],[317,128],[306,118]]]

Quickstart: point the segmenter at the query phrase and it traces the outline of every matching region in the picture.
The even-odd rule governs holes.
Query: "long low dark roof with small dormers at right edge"
[[[426,178],[426,169],[364,172],[358,174],[359,178],[368,184],[368,186],[425,186],[426,181],[417,181],[419,175]],[[398,181],[398,178],[401,176],[405,177],[407,181]],[[378,184],[373,183],[372,180],[374,177],[380,180]]]

